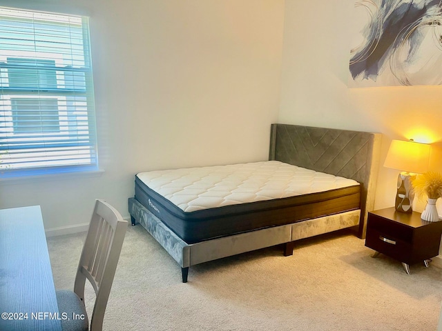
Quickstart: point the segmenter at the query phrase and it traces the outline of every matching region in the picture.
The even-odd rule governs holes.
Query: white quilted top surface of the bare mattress
[[[184,212],[358,185],[280,161],[140,172],[138,179]]]

